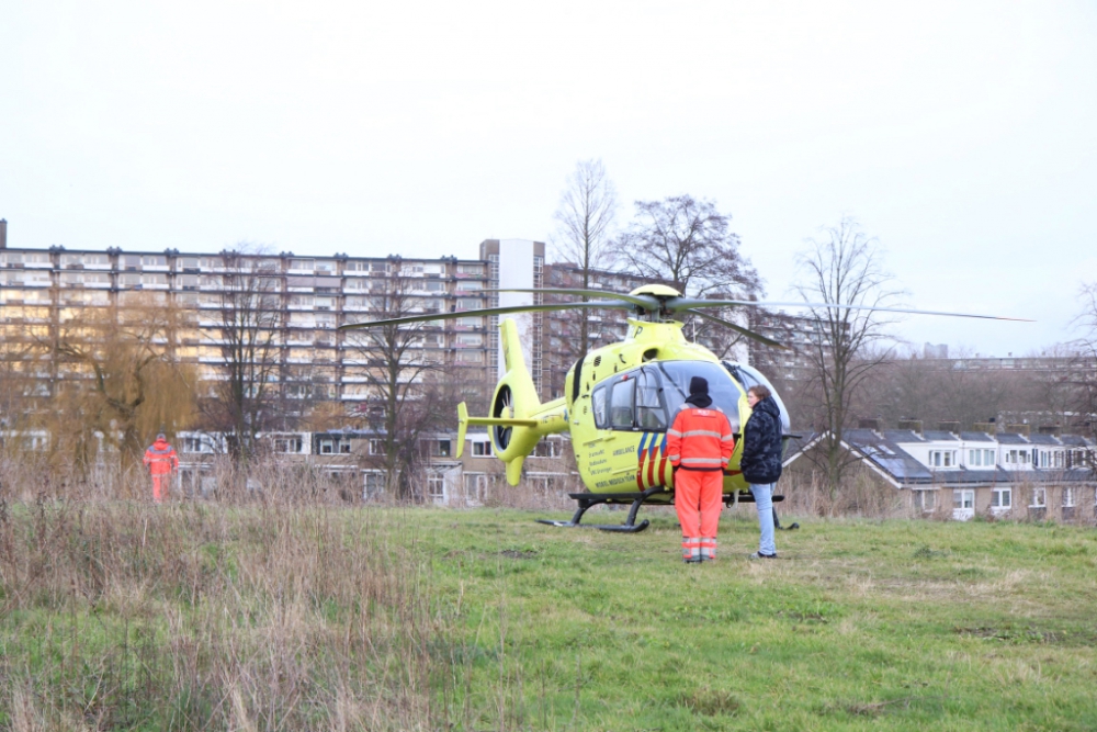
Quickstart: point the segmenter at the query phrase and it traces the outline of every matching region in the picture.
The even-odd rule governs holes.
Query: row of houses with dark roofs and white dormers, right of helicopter
[[[955,520],[976,515],[1029,519],[1097,517],[1097,443],[1078,435],[947,429],[851,429],[841,449],[907,505]],[[1026,428],[1027,429],[1027,428]],[[784,464],[811,462],[826,435],[791,447]],[[798,465],[799,463],[799,465]]]

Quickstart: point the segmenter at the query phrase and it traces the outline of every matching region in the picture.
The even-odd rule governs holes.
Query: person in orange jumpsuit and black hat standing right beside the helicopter
[[[667,459],[675,466],[675,510],[682,527],[682,560],[690,564],[716,559],[724,469],[735,448],[726,415],[711,406],[709,382],[693,376],[689,397],[667,430]]]

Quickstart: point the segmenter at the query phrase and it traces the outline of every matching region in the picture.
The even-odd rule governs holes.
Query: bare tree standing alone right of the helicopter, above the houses
[[[805,302],[884,307],[901,294],[891,289],[893,278],[882,268],[879,244],[851,218],[824,229],[822,237],[808,244],[798,258],[801,272],[795,285]],[[889,349],[875,347],[886,338],[885,326],[892,320],[863,309],[812,307],[811,312],[819,325],[819,338],[806,349],[819,405],[813,421],[823,435],[813,462],[833,499],[857,462],[841,447],[844,433],[858,392],[889,359]]]

